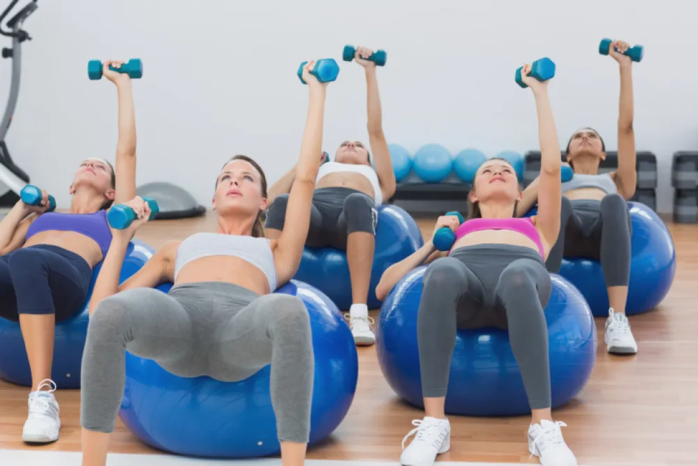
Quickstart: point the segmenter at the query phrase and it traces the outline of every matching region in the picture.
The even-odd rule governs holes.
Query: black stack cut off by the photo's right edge
[[[676,152],[671,161],[671,186],[674,191],[674,221],[695,224],[698,221],[698,152]]]

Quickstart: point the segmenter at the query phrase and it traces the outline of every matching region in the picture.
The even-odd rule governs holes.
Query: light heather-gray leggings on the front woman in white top
[[[82,427],[112,432],[126,379],[126,350],[181,377],[251,377],[269,363],[281,442],[307,443],[313,342],[302,300],[260,296],[223,282],[181,284],[169,295],[138,288],[103,300],[82,358]]]

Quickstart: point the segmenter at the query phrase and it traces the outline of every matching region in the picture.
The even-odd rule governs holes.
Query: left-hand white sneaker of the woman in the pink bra
[[[402,439],[401,465],[431,466],[436,461],[436,455],[446,453],[451,448],[451,423],[448,419],[427,416],[423,420],[415,419],[412,425],[417,428],[410,430]],[[415,434],[415,439],[405,448],[406,440]]]

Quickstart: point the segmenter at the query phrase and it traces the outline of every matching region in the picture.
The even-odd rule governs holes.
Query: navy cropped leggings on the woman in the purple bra
[[[0,256],[0,317],[56,314],[63,321],[79,312],[92,279],[89,264],[74,252],[52,245],[17,249]]]

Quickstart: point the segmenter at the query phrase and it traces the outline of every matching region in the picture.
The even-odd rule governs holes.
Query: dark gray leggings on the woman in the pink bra
[[[551,279],[533,249],[477,245],[433,261],[417,315],[422,395],[446,395],[456,329],[509,330],[531,409],[551,407],[548,328]]]

